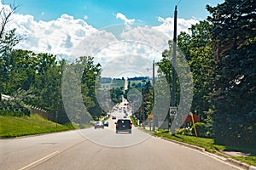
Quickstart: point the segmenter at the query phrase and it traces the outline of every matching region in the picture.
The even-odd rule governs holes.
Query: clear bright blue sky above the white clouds
[[[9,4],[10,0],[2,0]],[[115,14],[124,14],[127,19],[146,26],[157,26],[157,18],[173,17],[178,3],[178,18],[205,20],[206,5],[216,6],[224,0],[15,0],[20,5],[18,14],[31,14],[34,20],[56,20],[61,14],[72,15],[75,19],[86,20],[88,24],[101,29],[105,26],[123,24]]]

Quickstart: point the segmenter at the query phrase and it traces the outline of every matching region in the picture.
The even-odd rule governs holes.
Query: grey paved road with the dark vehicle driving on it
[[[123,112],[114,113],[123,116]],[[21,139],[0,140],[0,169],[224,169],[235,167],[179,144],[154,138],[133,127],[132,133],[94,127]]]

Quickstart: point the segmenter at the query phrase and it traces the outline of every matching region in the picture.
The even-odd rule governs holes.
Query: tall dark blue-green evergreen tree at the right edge
[[[217,92],[215,141],[255,144],[256,140],[256,3],[226,0],[207,6],[215,48]]]

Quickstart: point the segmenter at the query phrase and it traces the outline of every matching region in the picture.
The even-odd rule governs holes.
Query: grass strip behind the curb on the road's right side
[[[145,131],[147,133],[152,133],[155,136],[158,136],[161,138],[172,139],[172,140],[176,140],[176,141],[183,142],[186,144],[192,144],[195,146],[199,146],[201,148],[204,148],[206,151],[217,154],[219,156],[230,157],[230,158],[236,159],[237,161],[242,161],[249,165],[256,166],[256,156],[225,156],[223,153],[221,153],[222,151],[233,150],[233,151],[241,151],[244,153],[255,154],[256,150],[250,150],[247,148],[234,148],[234,147],[230,147],[230,146],[214,144],[213,139],[199,138],[199,137],[195,137],[195,136],[186,136],[186,135],[182,135],[182,134],[172,135],[169,131],[162,130],[162,129],[159,129],[155,132],[149,131],[146,129],[143,129],[143,131]]]

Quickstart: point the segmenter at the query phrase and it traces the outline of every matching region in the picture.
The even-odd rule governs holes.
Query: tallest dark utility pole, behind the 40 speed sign
[[[173,31],[173,56],[172,56],[172,107],[176,107],[176,43],[177,43],[177,6],[174,11],[174,31]],[[171,122],[173,117],[170,116]],[[172,131],[174,129],[171,129]],[[175,132],[172,132],[175,133]]]

